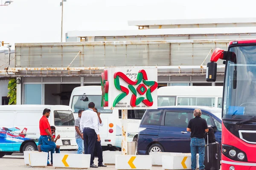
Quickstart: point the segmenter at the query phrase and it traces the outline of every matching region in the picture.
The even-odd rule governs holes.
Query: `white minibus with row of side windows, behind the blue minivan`
[[[223,86],[166,86],[157,89],[160,106],[222,107]]]

